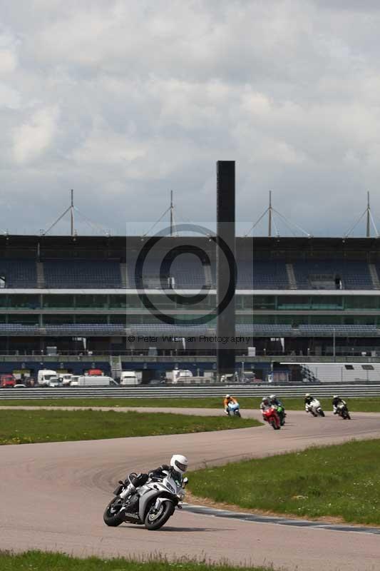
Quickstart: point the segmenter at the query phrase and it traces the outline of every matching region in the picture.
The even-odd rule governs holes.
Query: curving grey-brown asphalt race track
[[[12,407],[13,408],[13,407]],[[147,410],[144,408],[144,410]],[[194,410],[175,409],[176,413]],[[199,414],[220,414],[197,409]],[[1,410],[0,410],[1,413]],[[257,413],[242,411],[245,416]],[[3,446],[0,487],[0,549],[42,549],[73,555],[196,557],[235,565],[269,565],[289,571],[377,571],[380,537],[375,532],[328,526],[263,522],[260,517],[215,517],[191,507],[176,511],[157,532],[103,524],[103,510],[120,477],[183,453],[190,468],[254,458],[352,438],[380,438],[380,415],[354,413],[344,421],[327,413],[312,418],[288,413],[287,425],[219,433],[117,438],[73,443]],[[232,422],[234,419],[231,419]],[[236,516],[236,514],[235,514]]]

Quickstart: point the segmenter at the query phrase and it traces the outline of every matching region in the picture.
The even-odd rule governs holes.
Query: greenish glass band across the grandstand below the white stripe
[[[178,318],[195,318],[215,307],[215,295],[206,295],[195,305],[180,298],[150,296],[158,310]],[[19,294],[1,293],[2,323],[160,323],[137,294]],[[380,295],[237,295],[236,318],[240,324],[274,325],[376,325],[380,327]],[[190,313],[191,312],[191,313]],[[208,325],[215,325],[215,316]],[[207,325],[207,324],[206,324]]]

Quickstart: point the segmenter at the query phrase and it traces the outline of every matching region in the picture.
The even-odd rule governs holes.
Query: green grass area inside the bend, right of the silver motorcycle
[[[379,446],[364,440],[198,470],[189,489],[247,509],[380,525]]]

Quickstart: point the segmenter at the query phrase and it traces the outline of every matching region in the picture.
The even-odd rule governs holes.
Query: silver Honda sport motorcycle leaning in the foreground
[[[120,493],[128,487],[130,477],[122,482],[113,494],[115,497],[109,502],[103,514],[103,521],[110,527],[117,527],[120,523],[127,522],[135,525],[145,525],[147,530],[158,530],[163,527],[175,511],[175,507],[182,509],[185,497],[185,486],[188,478],[182,482],[174,479],[173,475],[164,471],[165,477],[151,477],[145,485],[138,487],[133,494],[125,499]]]

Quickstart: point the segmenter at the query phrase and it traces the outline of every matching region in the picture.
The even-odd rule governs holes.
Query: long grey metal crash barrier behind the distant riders
[[[25,399],[68,398],[222,398],[226,393],[237,397],[262,397],[276,394],[282,398],[302,398],[304,393],[320,398],[339,394],[343,398],[380,397],[380,383],[334,383],[329,385],[202,385],[140,387],[73,387],[73,388],[1,388],[0,402]]]

